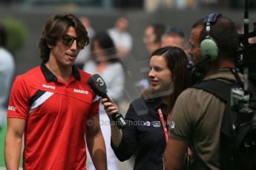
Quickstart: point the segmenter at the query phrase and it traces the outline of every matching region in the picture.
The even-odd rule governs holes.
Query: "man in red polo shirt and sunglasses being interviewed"
[[[42,64],[18,75],[10,92],[7,169],[19,169],[23,135],[23,169],[85,169],[86,148],[96,169],[107,169],[99,98],[86,83],[91,75],[73,66],[86,44],[79,18],[48,18],[39,41]]]

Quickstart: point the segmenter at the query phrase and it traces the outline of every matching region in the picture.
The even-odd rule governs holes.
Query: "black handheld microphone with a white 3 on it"
[[[92,75],[90,78],[88,78],[87,84],[91,87],[91,89],[96,95],[99,95],[102,98],[107,98],[108,101],[111,101],[107,95],[108,91],[105,81],[100,75]],[[119,129],[123,129],[125,127],[125,119],[122,117],[120,113],[112,115],[112,119],[116,122],[116,125]]]

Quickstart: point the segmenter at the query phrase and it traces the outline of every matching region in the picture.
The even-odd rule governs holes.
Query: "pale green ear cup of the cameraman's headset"
[[[200,44],[200,53],[203,58],[210,56],[210,61],[214,61],[217,59],[219,54],[219,48],[217,47],[217,43],[213,38],[206,38]]]

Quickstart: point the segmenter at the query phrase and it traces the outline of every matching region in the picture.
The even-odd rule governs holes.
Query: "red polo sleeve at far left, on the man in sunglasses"
[[[7,118],[27,119],[30,108],[27,86],[22,77],[17,76],[13,81],[10,100],[7,109]]]

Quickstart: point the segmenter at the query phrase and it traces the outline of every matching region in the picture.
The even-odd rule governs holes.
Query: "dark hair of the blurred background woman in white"
[[[93,42],[97,41],[99,44],[99,47],[102,48],[100,51],[95,51],[93,47]],[[96,53],[100,52],[100,54],[105,55],[106,60],[111,63],[115,63],[119,61],[119,57],[116,53],[116,48],[114,46],[114,41],[111,39],[111,37],[106,33],[105,31],[101,31],[96,33],[96,35],[93,36],[91,40],[91,59],[93,61],[96,61]],[[96,61],[98,62],[98,61]]]

